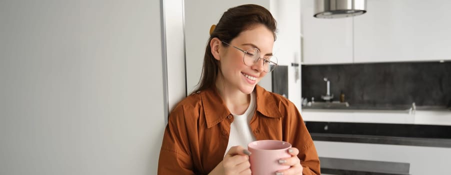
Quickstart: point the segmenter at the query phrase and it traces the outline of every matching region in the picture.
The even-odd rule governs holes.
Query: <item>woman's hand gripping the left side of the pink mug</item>
[[[296,149],[297,150],[297,149]],[[297,154],[297,153],[296,153]],[[209,175],[251,174],[249,163],[250,152],[242,146],[233,146],[225,154],[219,164]]]

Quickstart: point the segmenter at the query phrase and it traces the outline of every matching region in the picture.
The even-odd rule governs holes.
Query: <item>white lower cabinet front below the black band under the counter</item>
[[[337,141],[314,141],[320,157],[348,158],[409,163],[409,174],[451,174],[451,148],[371,144]]]

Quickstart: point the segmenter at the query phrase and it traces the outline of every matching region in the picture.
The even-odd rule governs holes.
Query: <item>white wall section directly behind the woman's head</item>
[[[269,9],[269,0],[185,0],[184,3],[186,86],[189,93],[194,90],[202,72],[210,26],[216,24],[222,13],[230,7],[254,3]]]

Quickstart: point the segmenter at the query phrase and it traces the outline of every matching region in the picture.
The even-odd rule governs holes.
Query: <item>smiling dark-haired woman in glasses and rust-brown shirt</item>
[[[247,143],[292,144],[290,165],[277,174],[319,174],[319,159],[303,120],[288,99],[257,85],[272,71],[275,20],[259,5],[229,8],[210,29],[194,93],[169,115],[158,174],[250,174]]]

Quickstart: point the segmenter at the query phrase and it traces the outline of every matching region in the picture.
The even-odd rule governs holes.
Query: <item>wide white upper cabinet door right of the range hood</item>
[[[354,62],[451,60],[451,0],[367,0]]]

